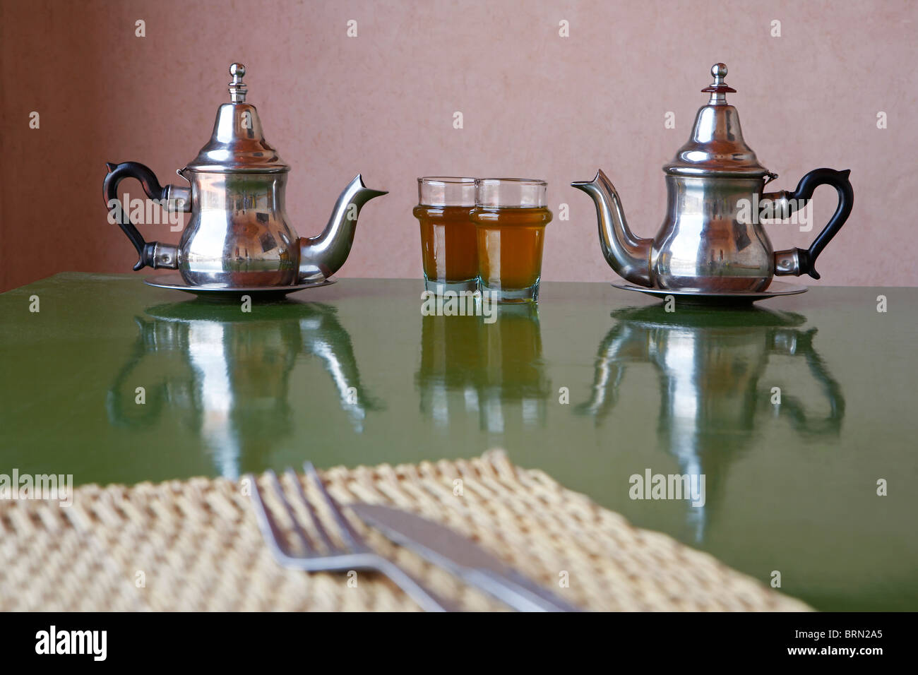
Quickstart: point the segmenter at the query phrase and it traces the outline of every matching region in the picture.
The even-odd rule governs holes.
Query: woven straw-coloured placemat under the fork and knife
[[[500,451],[321,476],[341,504],[385,503],[448,525],[585,609],[809,609],[666,534],[633,527],[541,471],[514,467]],[[418,609],[379,575],[280,568],[243,487],[193,478],[84,486],[68,508],[0,501],[0,610]],[[351,520],[371,546],[444,597],[473,611],[506,609]]]

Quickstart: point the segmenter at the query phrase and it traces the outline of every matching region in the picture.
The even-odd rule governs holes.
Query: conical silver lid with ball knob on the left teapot
[[[229,74],[232,75],[230,103],[219,107],[210,141],[185,168],[215,173],[289,171],[290,167],[274,147],[264,140],[258,111],[245,102],[247,87],[242,82],[245,66],[233,63],[229,66]]]

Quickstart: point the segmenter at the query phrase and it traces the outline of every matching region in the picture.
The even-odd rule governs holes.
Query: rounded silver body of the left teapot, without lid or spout
[[[178,247],[185,283],[297,283],[299,242],[285,211],[286,172],[185,174],[192,201],[192,216]]]

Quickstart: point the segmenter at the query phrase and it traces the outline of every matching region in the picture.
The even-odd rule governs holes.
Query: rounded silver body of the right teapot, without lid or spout
[[[651,251],[651,282],[666,290],[758,292],[775,253],[750,205],[760,176],[666,175],[666,218]]]

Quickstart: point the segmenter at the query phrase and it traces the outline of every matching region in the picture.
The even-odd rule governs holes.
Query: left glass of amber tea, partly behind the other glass
[[[475,178],[424,176],[418,179],[420,251],[424,286],[434,293],[476,291],[478,254],[475,225]]]

